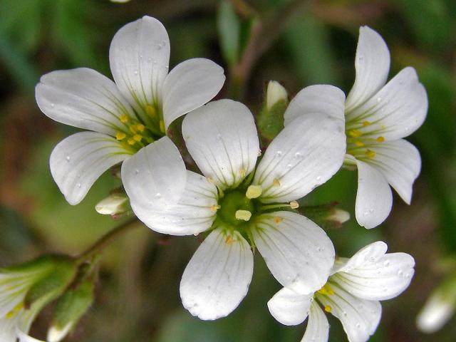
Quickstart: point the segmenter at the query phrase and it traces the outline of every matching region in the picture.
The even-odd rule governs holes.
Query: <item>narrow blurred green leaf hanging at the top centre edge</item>
[[[241,21],[229,1],[222,1],[220,4],[217,16],[217,30],[219,32],[222,55],[229,66],[234,66],[239,59]],[[246,28],[243,30],[244,37],[245,31]]]

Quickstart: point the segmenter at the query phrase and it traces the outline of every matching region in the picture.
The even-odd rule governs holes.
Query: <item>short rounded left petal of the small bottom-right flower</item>
[[[314,293],[297,294],[284,287],[268,301],[268,309],[274,318],[286,326],[296,326],[307,318]]]

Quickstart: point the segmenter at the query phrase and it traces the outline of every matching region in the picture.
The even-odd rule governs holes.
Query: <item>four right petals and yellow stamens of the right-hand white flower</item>
[[[358,168],[356,220],[368,229],[390,213],[390,186],[408,204],[420,173],[420,153],[403,140],[423,124],[427,95],[415,69],[404,68],[388,83],[390,53],[371,28],[360,28],[356,81],[346,100],[346,165]]]

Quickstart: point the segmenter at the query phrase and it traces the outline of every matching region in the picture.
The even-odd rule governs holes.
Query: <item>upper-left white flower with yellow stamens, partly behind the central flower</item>
[[[168,73],[170,40],[150,16],[120,28],[109,58],[115,83],[92,69],[76,68],[48,73],[36,86],[36,102],[49,118],[93,131],[71,135],[51,154],[51,173],[70,204],[81,202],[109,167],[211,100],[224,83],[223,69],[205,58],[184,61]],[[183,190],[185,173],[180,177],[175,187]]]

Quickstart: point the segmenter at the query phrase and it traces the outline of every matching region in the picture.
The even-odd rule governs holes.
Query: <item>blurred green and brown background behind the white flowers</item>
[[[455,341],[455,318],[427,336],[415,328],[415,317],[430,291],[456,269],[456,1],[232,3],[236,15],[227,2],[215,0],[0,0],[0,266],[44,252],[81,252],[118,224],[94,209],[119,185],[110,172],[76,207],[66,203],[51,178],[50,152],[75,130],[38,110],[33,88],[43,73],[86,66],[110,77],[110,39],[147,14],[167,28],[171,67],[187,58],[211,58],[229,76],[219,97],[237,97],[257,110],[270,79],[281,81],[291,95],[315,83],[348,93],[358,27],[368,25],[388,43],[390,77],[411,65],[427,89],[427,120],[408,139],[420,149],[423,170],[412,205],[395,195],[385,224],[366,231],[351,219],[328,234],[341,256],[383,239],[390,252],[408,252],[417,261],[410,288],[383,302],[383,319],[371,341]],[[287,6],[292,11],[282,17]],[[238,57],[249,32],[261,23],[269,23],[263,33],[271,44],[259,49],[249,72],[239,78]],[[306,201],[337,200],[354,217],[355,195],[356,172],[342,170]],[[269,315],[266,301],[280,286],[258,254],[249,294],[234,313],[204,322],[185,311],[178,286],[197,245],[195,237],[169,238],[146,227],[118,239],[103,254],[95,304],[66,341],[300,341],[304,324],[281,326]],[[50,315],[48,309],[38,318],[34,336],[44,337]],[[332,317],[330,323],[330,341],[346,341],[341,324]]]

